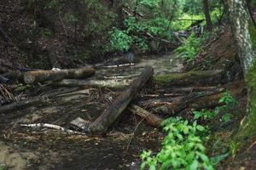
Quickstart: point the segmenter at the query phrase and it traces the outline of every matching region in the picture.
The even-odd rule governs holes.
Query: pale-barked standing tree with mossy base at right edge
[[[224,6],[230,16],[241,68],[247,82],[247,115],[234,136],[236,142],[244,144],[242,142],[256,134],[256,56],[253,51],[253,38],[256,37],[252,37],[255,35],[255,28],[245,0],[224,1]]]

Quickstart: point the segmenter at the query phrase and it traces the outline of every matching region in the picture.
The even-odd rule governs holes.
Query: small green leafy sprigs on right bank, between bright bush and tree
[[[192,111],[194,114],[194,119],[198,120],[211,120],[218,116],[219,112],[222,112],[221,120],[224,122],[229,122],[232,118],[230,114],[231,109],[237,105],[236,99],[230,94],[229,91],[224,92],[223,97],[218,100],[218,103],[223,104],[222,106],[216,107],[214,110],[202,109],[201,111]]]

